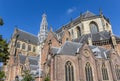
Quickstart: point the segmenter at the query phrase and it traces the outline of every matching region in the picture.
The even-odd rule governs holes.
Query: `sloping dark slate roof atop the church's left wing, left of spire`
[[[16,38],[16,36],[18,35],[18,38],[17,38],[18,40],[28,42],[34,45],[38,44],[39,41],[37,36],[20,29],[15,29],[15,31],[17,32],[17,34],[15,34],[13,38]]]

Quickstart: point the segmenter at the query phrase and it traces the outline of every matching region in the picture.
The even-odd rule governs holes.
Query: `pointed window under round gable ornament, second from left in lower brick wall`
[[[86,73],[86,81],[93,81],[92,68],[89,62],[86,63],[85,73]]]

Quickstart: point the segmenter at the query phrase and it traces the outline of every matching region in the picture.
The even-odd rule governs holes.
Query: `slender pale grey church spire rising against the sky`
[[[42,15],[42,22],[40,24],[40,32],[38,33],[38,39],[40,43],[43,43],[48,35],[48,23],[47,23],[47,16],[44,13]]]

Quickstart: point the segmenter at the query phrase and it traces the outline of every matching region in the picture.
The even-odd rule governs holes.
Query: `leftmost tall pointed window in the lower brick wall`
[[[65,64],[65,78],[66,81],[74,81],[74,69],[70,61]]]

